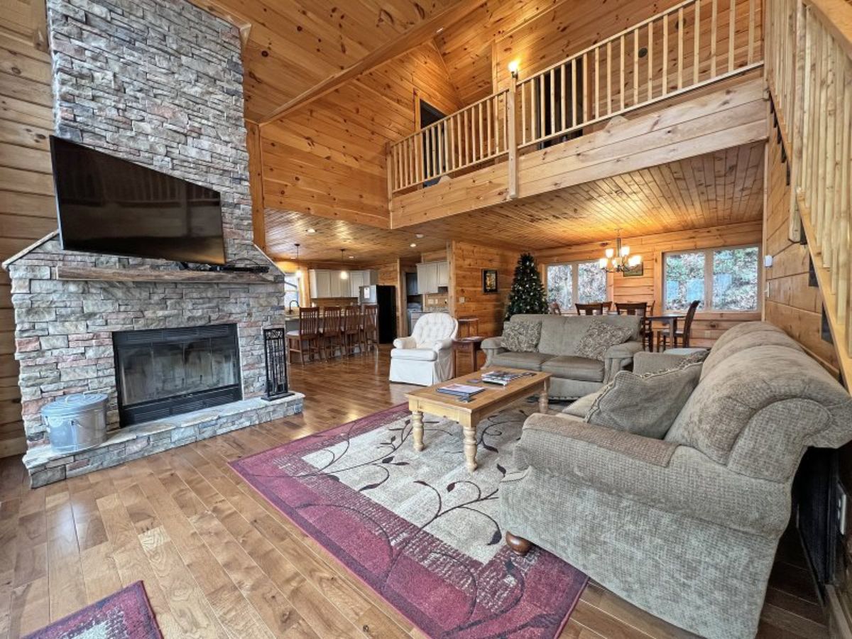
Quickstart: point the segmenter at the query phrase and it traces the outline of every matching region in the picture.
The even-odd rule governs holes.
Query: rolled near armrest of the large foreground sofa
[[[567,415],[528,417],[515,465],[745,533],[780,535],[790,518],[786,482],[739,475],[689,446]]]

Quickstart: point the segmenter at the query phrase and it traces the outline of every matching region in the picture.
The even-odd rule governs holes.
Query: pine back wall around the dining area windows
[[[642,255],[644,274],[642,277],[628,277],[613,273],[608,278],[608,299],[613,302],[653,302],[654,312],[663,307],[662,255],[672,250],[710,249],[719,246],[737,246],[746,244],[760,245],[763,238],[762,222],[742,222],[720,227],[701,228],[692,231],[677,231],[658,235],[645,235],[625,238],[630,252]],[[579,262],[596,260],[603,255],[607,243],[602,242],[566,246],[560,249],[540,250],[535,253],[543,275],[548,264],[561,262]],[[698,313],[693,325],[692,346],[711,346],[717,337],[733,325],[744,321],[760,320],[760,312],[755,313]]]

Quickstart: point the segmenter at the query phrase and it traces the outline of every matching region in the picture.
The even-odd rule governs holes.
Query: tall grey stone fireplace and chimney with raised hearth
[[[284,288],[252,242],[239,32],[186,0],[49,0],[48,26],[55,134],[215,189],[227,260],[272,270],[199,275],[55,234],[5,262],[32,485],[300,412],[301,394],[261,399]],[[107,443],[57,455],[40,410],[89,391],[109,395]]]

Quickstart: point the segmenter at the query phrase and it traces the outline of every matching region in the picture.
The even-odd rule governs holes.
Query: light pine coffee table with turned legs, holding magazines
[[[550,389],[550,373],[536,372],[529,377],[513,379],[506,386],[494,384],[471,383],[471,379],[479,379],[486,371],[509,371],[527,373],[515,368],[486,368],[481,371],[454,377],[446,382],[429,386],[427,389],[416,390],[406,394],[408,410],[412,412],[412,436],[414,450],[423,450],[423,413],[438,417],[447,417],[462,425],[464,434],[464,460],[470,472],[476,469],[476,424],[482,419],[498,412],[500,409],[514,404],[517,400],[529,394],[538,393],[538,410],[547,412],[547,392]],[[468,403],[459,401],[453,395],[439,393],[437,389],[449,384],[467,384],[479,386],[481,393],[475,394]]]

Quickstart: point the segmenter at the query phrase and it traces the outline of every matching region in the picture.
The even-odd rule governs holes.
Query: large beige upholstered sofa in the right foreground
[[[642,354],[635,371],[655,360]],[[808,446],[852,439],[852,398],[763,322],[725,332],[699,366],[663,439],[528,417],[501,525],[516,550],[538,544],[675,625],[752,637],[798,463]]]

